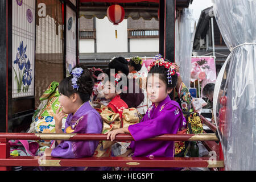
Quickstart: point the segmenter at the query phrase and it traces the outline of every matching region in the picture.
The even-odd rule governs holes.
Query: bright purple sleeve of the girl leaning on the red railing
[[[177,113],[177,109],[179,113]],[[144,119],[143,122],[128,127],[135,141],[163,134],[176,134],[179,127],[183,125],[183,121],[185,121],[180,108],[171,104],[166,105],[162,111],[158,111],[156,114],[152,119]]]

